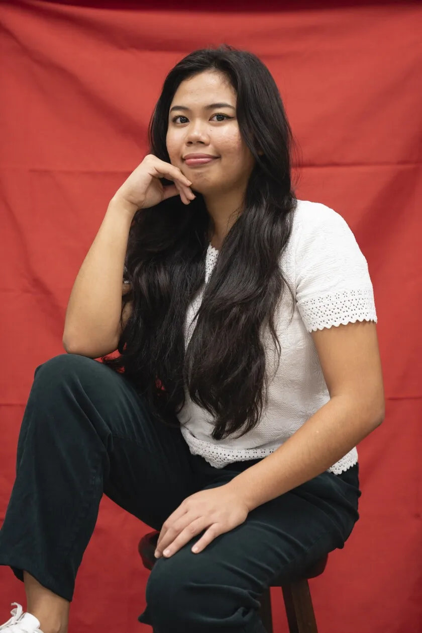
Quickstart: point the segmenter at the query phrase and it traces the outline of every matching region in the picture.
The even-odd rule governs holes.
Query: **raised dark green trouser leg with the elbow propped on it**
[[[194,459],[123,375],[84,356],[52,358],[25,408],[0,565],[71,600],[103,492],[160,529],[195,491]]]

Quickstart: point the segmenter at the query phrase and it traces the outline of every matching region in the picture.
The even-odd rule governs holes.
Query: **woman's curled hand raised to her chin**
[[[172,180],[174,184],[163,186],[160,178]],[[191,181],[178,167],[148,154],[116,191],[113,199],[124,205],[135,215],[138,209],[147,209],[172,196],[180,196],[184,204],[195,198]]]

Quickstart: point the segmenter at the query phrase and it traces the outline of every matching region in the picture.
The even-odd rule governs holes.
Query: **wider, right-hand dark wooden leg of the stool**
[[[282,587],[289,633],[318,633],[308,580]]]

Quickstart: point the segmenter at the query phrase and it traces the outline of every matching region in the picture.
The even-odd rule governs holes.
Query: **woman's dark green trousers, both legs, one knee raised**
[[[191,455],[124,378],[62,354],[35,370],[18,441],[16,481],[0,531],[0,565],[68,600],[102,494],[159,530],[193,492],[256,463],[226,468]],[[192,543],[155,563],[140,622],[159,633],[263,633],[258,600],[335,548],[358,520],[358,465],[325,472],[251,511],[200,554]]]

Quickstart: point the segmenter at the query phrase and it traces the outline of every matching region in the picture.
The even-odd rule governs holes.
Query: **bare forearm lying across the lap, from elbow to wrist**
[[[274,453],[227,486],[253,510],[323,473],[381,422],[381,415],[368,413],[349,398],[332,398]]]

